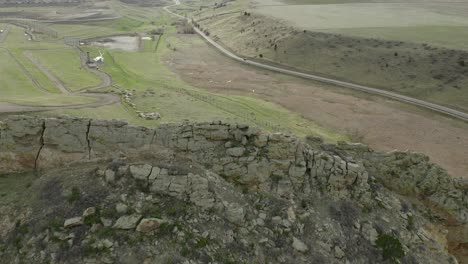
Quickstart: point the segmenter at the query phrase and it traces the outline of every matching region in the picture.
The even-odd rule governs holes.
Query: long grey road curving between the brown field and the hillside
[[[180,4],[178,0],[174,0],[174,3],[175,4],[172,5],[172,6],[176,6],[176,5]],[[178,18],[189,20],[188,18],[186,18],[184,16],[181,16],[179,14],[176,14],[176,13],[172,12],[171,10],[169,10],[169,7],[171,7],[171,6],[164,7],[164,10],[166,10],[168,13],[170,13],[170,14],[178,17]],[[218,43],[216,43],[214,40],[212,40],[210,37],[208,37],[205,33],[203,33],[198,28],[194,27],[194,30],[195,30],[195,32],[197,32],[198,35],[200,35],[202,38],[204,38],[208,43],[210,43],[216,49],[221,51],[224,55],[226,55],[226,56],[228,56],[228,57],[230,57],[230,58],[232,58],[234,60],[237,60],[237,61],[239,61],[241,63],[244,63],[244,64],[252,65],[252,66],[255,66],[255,67],[267,69],[267,70],[274,71],[274,72],[289,74],[289,75],[293,75],[293,76],[297,76],[297,77],[301,77],[301,78],[305,78],[305,79],[309,79],[309,80],[334,84],[334,85],[337,85],[337,86],[350,88],[350,89],[358,90],[358,91],[361,91],[361,92],[377,94],[377,95],[384,96],[384,97],[387,97],[387,98],[391,98],[391,99],[394,99],[394,100],[402,101],[402,102],[405,102],[405,103],[408,103],[408,104],[412,104],[412,105],[420,106],[420,107],[423,107],[423,108],[426,108],[426,109],[430,109],[430,110],[436,111],[438,113],[442,113],[442,114],[445,114],[445,115],[449,115],[449,116],[461,119],[463,121],[468,121],[468,113],[464,113],[464,112],[461,112],[461,111],[458,111],[458,110],[455,110],[455,109],[451,109],[451,108],[448,108],[448,107],[445,107],[445,106],[429,103],[429,102],[419,100],[419,99],[416,99],[416,98],[412,98],[412,97],[409,97],[409,96],[405,96],[405,95],[401,95],[401,94],[397,94],[397,93],[393,93],[393,92],[389,92],[389,91],[385,91],[385,90],[381,90],[381,89],[377,89],[377,88],[372,88],[372,87],[368,87],[368,86],[363,86],[363,85],[359,85],[359,84],[343,82],[343,81],[339,81],[339,80],[335,80],[335,79],[331,79],[331,78],[325,78],[325,77],[321,77],[321,76],[317,76],[317,75],[313,75],[313,74],[307,74],[307,73],[302,73],[302,72],[298,72],[298,71],[292,71],[292,70],[288,70],[288,69],[285,69],[285,68],[275,67],[275,66],[271,66],[271,65],[268,65],[268,64],[263,64],[263,63],[251,61],[251,60],[248,60],[246,58],[241,58],[241,57],[237,56],[236,54],[230,52],[229,50],[225,49],[224,47],[222,47]]]

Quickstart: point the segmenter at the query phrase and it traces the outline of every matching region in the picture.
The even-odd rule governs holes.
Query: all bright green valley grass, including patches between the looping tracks
[[[9,101],[13,100],[13,95],[23,100],[22,102],[31,100],[31,103],[35,104],[51,102],[52,96],[60,98],[62,102],[68,98],[59,94],[50,80],[23,56],[25,51],[31,53],[68,89],[76,91],[98,84],[99,79],[84,69],[80,69],[78,53],[75,49],[64,45],[63,39],[65,37],[85,39],[125,32],[149,32],[154,29],[163,29],[165,33],[162,36],[155,36],[154,40],[145,40],[142,49],[138,52],[103,50],[92,46],[83,47],[85,51],[91,51],[92,54],[97,54],[99,50],[104,51],[105,63],[100,66],[100,69],[111,75],[114,83],[113,87],[107,88],[107,91],[116,93],[123,90],[131,91],[133,93],[131,103],[136,104],[136,109],[122,100],[120,105],[61,109],[37,114],[41,116],[68,114],[89,118],[124,119],[132,124],[145,126],[155,126],[159,122],[180,122],[183,120],[225,120],[248,123],[269,131],[291,132],[300,136],[322,136],[328,142],[347,139],[346,136],[324,129],[276,104],[250,97],[211,93],[190,86],[162,62],[166,55],[169,55],[174,49],[190,45],[190,43],[181,42],[179,38],[174,36],[176,26],[171,24],[173,20],[170,16],[161,9],[150,10],[129,6],[118,1],[112,2],[112,6],[123,18],[81,24],[51,24],[50,27],[59,34],[57,39],[38,38],[39,42],[29,41],[22,29],[15,27],[13,34],[9,36],[8,43],[5,43],[6,46],[21,61],[24,61],[25,66],[34,72],[34,75],[41,79],[41,83],[47,86],[46,90],[50,90],[52,93],[44,92],[42,94],[41,90],[31,84],[25,86],[17,83],[19,81],[25,84],[29,82],[27,78],[22,76],[18,80],[10,80],[12,83],[9,87],[21,85],[28,87],[27,90],[24,93],[8,90]],[[22,75],[19,71],[10,75],[12,74]],[[41,98],[42,95],[44,97]],[[90,100],[89,98],[85,99]],[[73,101],[73,103],[77,102],[80,101]],[[72,104],[72,102],[68,103]],[[158,112],[162,119],[157,121],[144,120],[137,115],[136,111]]]

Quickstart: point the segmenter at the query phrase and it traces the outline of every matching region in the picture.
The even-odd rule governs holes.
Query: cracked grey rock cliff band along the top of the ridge
[[[369,200],[369,174],[403,195],[423,196],[468,222],[468,183],[449,177],[422,154],[378,153],[342,143],[312,149],[283,134],[266,134],[247,125],[161,124],[155,129],[123,121],[80,118],[5,120],[0,130],[0,171],[44,170],[97,160],[157,157],[183,153],[225,178],[281,197],[307,195],[315,189],[336,199]],[[151,178],[155,189],[177,196],[190,177],[169,176],[151,167],[132,167],[136,178]],[[138,172],[137,172],[138,171]],[[109,175],[110,178],[112,175]],[[196,181],[196,180],[195,180]],[[152,183],[151,182],[151,183]]]

